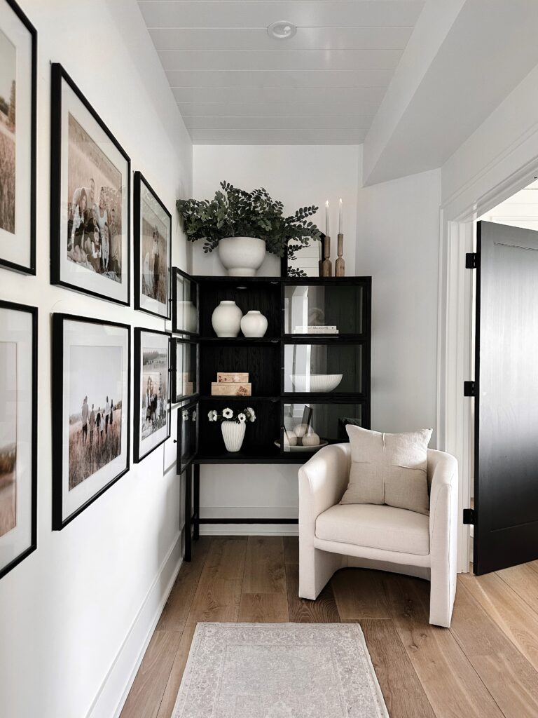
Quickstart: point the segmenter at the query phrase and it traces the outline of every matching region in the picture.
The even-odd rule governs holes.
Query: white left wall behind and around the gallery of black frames
[[[0,582],[0,714],[111,718],[181,561],[180,491],[169,441],[51,531],[51,312],[164,322],[49,284],[49,62],[62,62],[171,210],[183,267],[174,204],[191,193],[192,146],[134,0],[20,2],[38,31],[37,276],[0,269],[0,296],[39,307],[39,506],[37,551]]]

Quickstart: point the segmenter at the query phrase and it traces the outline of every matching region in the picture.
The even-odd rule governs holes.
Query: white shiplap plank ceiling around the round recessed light
[[[424,4],[138,0],[197,144],[362,142]]]

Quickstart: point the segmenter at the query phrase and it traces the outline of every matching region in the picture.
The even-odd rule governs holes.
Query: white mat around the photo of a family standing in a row
[[[65,520],[86,501],[95,496],[113,478],[126,469],[128,464],[128,330],[123,327],[98,325],[89,322],[65,320],[63,323],[63,396],[62,396],[62,518]],[[71,346],[111,346],[121,347],[123,352],[122,391],[121,391],[121,452],[95,474],[69,490],[69,437],[70,437],[70,396],[68,377],[70,376]]]

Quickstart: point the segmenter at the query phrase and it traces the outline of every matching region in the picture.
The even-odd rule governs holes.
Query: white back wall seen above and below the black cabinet
[[[331,205],[331,235],[338,232],[337,206],[344,202],[346,274],[355,274],[359,146],[214,146],[193,147],[193,196],[214,195],[221,180],[252,190],[265,187],[284,203],[285,213],[305,205],[320,209],[314,220],[324,230],[325,200]],[[336,256],[336,243],[332,247]],[[194,274],[225,274],[215,253],[195,245]],[[279,261],[269,256],[262,274],[280,275]],[[204,416],[201,420],[204,421]],[[277,438],[277,437],[275,437]],[[245,441],[248,440],[248,434]],[[297,516],[297,466],[202,466],[202,516]],[[296,533],[296,526],[212,526],[207,531]],[[202,526],[202,532],[204,527]]]

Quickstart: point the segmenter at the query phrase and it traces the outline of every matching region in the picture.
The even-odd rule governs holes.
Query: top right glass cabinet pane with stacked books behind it
[[[285,334],[362,334],[363,313],[362,284],[285,285]]]

